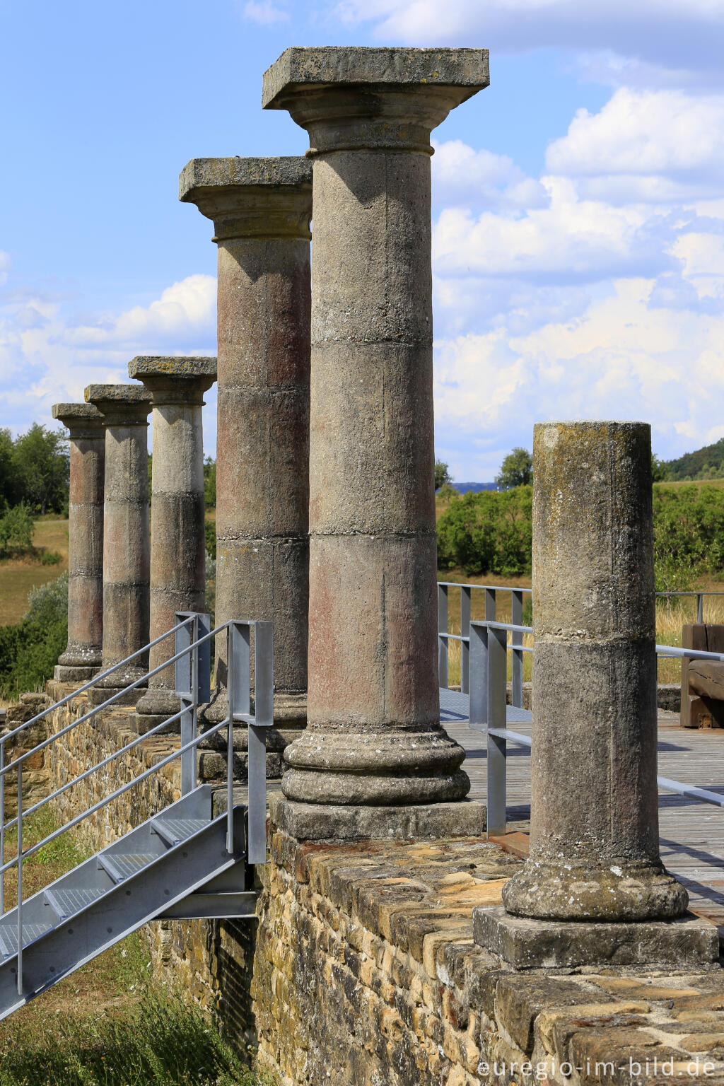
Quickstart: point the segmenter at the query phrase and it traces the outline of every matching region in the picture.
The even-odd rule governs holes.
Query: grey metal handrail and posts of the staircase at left
[[[229,855],[233,855],[234,841],[234,810],[233,810],[233,724],[246,723],[249,730],[249,762],[247,762],[247,824],[246,824],[246,860],[250,863],[264,863],[266,861],[266,730],[274,723],[274,645],[272,626],[268,621],[241,621],[230,619],[209,630],[207,615],[183,611],[176,615],[177,621],[166,633],[154,639],[143,648],[131,653],[112,668],[94,675],[89,682],[74,690],[71,694],[55,702],[53,705],[37,714],[30,720],[20,724],[11,732],[0,736],[0,918],[5,914],[4,907],[4,879],[5,872],[12,868],[17,869],[17,992],[23,994],[23,863],[30,856],[34,856],[46,845],[49,845],[61,834],[75,829],[80,822],[91,815],[102,810],[109,804],[118,799],[130,788],[158,773],[160,770],[170,765],[177,758],[181,762],[181,795],[187,795],[193,791],[198,784],[198,761],[196,750],[202,740],[217,734],[223,729],[227,729],[227,750],[226,750],[226,775],[227,775],[227,833],[226,849]],[[199,705],[208,702],[211,696],[211,641],[213,637],[226,631],[227,637],[227,661],[228,661],[228,710],[225,720],[213,728],[206,729],[201,735],[198,734],[198,710]],[[254,712],[251,711],[251,635],[254,632]],[[114,672],[125,667],[131,660],[143,656],[154,645],[160,644],[167,637],[174,637],[174,655],[153,670],[145,672],[135,682],[128,683],[115,694],[112,694],[101,705],[82,714],[76,720],[71,721],[60,731],[37,744],[31,750],[25,750],[14,758],[10,763],[5,762],[5,745],[9,740],[15,738],[21,732],[31,728],[49,714],[54,712],[61,706],[66,705],[79,694],[85,693],[98,685],[102,679],[107,679]],[[45,750],[52,743],[67,735],[68,732],[80,724],[91,720],[98,714],[113,706],[128,691],[144,685],[150,678],[158,674],[167,668],[175,666],[175,685],[181,708],[173,716],[165,718],[160,724],[151,728],[144,734],[137,736],[130,743],[114,750],[102,761],[80,773],[78,776],[67,781],[61,787],[45,798],[33,804],[28,808],[23,808],[23,767],[25,762],[39,752]],[[167,730],[169,724],[180,722],[180,745],[178,749],[155,762],[150,769],[139,773],[132,780],[126,782],[120,787],[111,792],[98,803],[81,811],[64,825],[47,834],[42,841],[36,842],[28,848],[23,848],[23,828],[25,820],[39,811],[47,804],[52,803],[62,796],[74,785],[89,778],[92,773],[110,766],[111,762],[128,754],[135,747],[142,744],[149,736],[155,735],[163,730]],[[17,815],[10,821],[5,821],[4,816],[4,793],[5,778],[10,773],[15,773],[17,778]],[[11,860],[5,861],[5,832],[16,829],[17,853]]]

